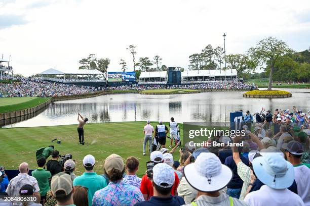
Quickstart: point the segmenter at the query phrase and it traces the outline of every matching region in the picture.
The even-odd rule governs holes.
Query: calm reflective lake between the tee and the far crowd
[[[141,95],[111,94],[85,99],[56,101],[41,114],[3,127],[34,127],[77,124],[78,113],[95,122],[169,121],[229,122],[229,113],[249,110],[251,114],[266,110],[310,110],[310,89],[285,89],[290,98],[244,98],[242,91],[204,92],[196,94]]]

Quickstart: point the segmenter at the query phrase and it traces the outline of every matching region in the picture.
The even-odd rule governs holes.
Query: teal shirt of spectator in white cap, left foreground
[[[106,187],[104,177],[97,175],[95,172],[85,172],[83,175],[74,178],[73,186],[81,185],[88,188],[88,204],[92,206],[92,200],[95,192]]]

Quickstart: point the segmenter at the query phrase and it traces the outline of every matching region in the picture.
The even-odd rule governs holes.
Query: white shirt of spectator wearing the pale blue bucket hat
[[[303,206],[300,196],[288,189],[273,189],[267,185],[261,186],[257,191],[250,192],[244,198],[252,206]]]

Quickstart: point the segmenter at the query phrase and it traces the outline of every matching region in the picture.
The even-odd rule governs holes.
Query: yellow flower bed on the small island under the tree
[[[243,93],[243,97],[253,98],[286,98],[292,97],[292,94],[283,90],[253,90]]]

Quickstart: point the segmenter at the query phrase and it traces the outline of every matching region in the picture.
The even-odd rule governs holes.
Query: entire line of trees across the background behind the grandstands
[[[152,59],[148,57],[137,58],[136,46],[129,45],[126,48],[132,56],[133,69],[139,77],[141,71],[167,71],[166,65],[162,65],[162,58],[158,55]],[[250,47],[244,54],[225,55],[221,46],[212,47],[208,44],[189,57],[189,70],[215,70],[236,69],[239,77],[250,77],[255,70],[263,70],[261,76],[269,77],[268,89],[271,89],[272,81],[308,81],[310,82],[310,51],[294,52],[286,42],[274,37],[264,38]],[[94,54],[79,61],[80,69],[98,69],[107,76],[110,59],[97,59]],[[127,63],[120,60],[120,66],[125,72]],[[136,70],[136,67],[139,69]],[[184,69],[182,68],[181,71]]]

